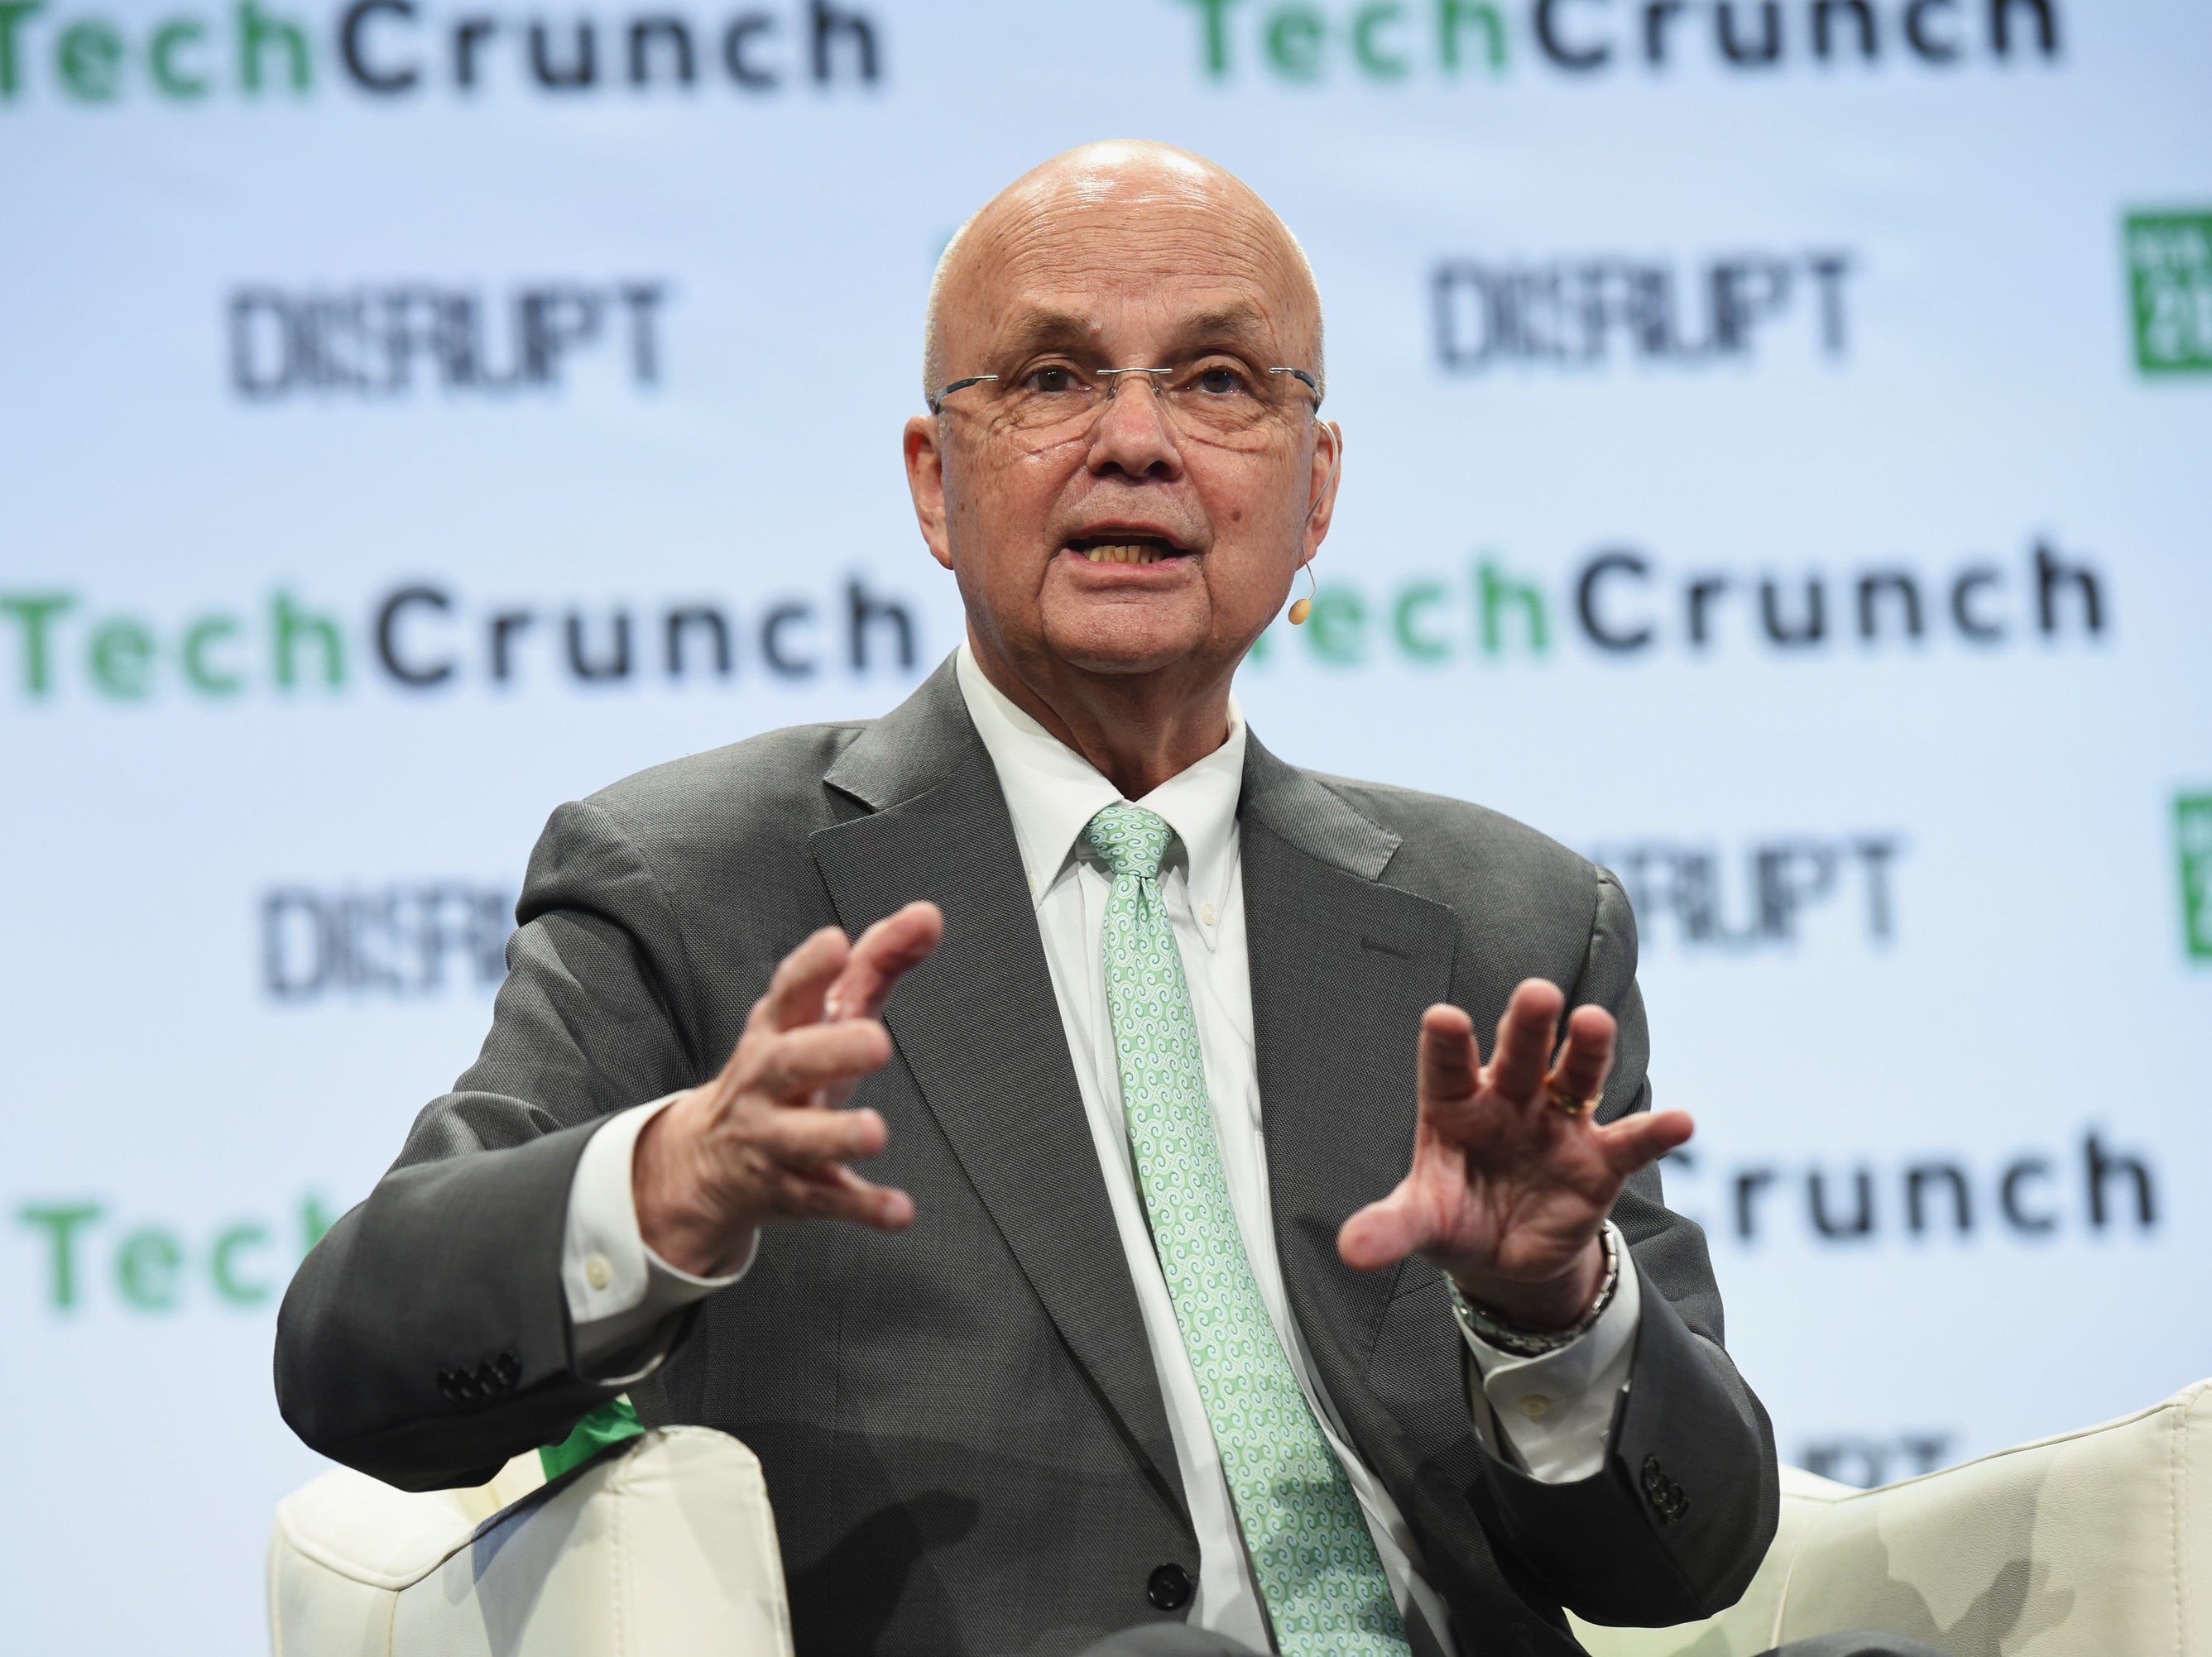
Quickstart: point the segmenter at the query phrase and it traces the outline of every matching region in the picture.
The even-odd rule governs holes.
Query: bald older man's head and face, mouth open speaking
[[[980,642],[1018,670],[1234,668],[1327,531],[1327,507],[1310,507],[1332,440],[1316,454],[1312,394],[1267,374],[1318,367],[1312,288],[1281,228],[1241,190],[1166,168],[1040,186],[969,243],[947,277],[940,363],[1000,378],[949,396],[933,434],[909,427],[907,458]],[[1060,385],[1060,365],[1214,356],[1272,407],[1234,440],[1141,374],[1077,434],[1004,418],[1022,387]]]

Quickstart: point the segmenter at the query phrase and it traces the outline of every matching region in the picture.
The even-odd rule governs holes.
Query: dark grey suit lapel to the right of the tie
[[[1396,1186],[1413,1155],[1416,1033],[1444,1000],[1451,909],[1378,876],[1398,836],[1256,741],[1245,759],[1245,936],[1283,1283],[1338,1409],[1363,1374],[1409,1263],[1354,1272],[1336,1232]]]

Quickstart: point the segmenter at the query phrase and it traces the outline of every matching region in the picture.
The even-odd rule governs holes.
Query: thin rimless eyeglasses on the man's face
[[[1084,369],[1073,363],[1044,363],[1018,381],[971,374],[938,389],[929,398],[929,411],[940,414],[953,392],[991,385],[995,389],[973,398],[978,414],[1024,440],[1068,442],[1097,423],[1121,381],[1133,374],[1152,387],[1159,407],[1181,436],[1228,449],[1256,447],[1294,416],[1294,403],[1303,398],[1294,392],[1285,396],[1287,381],[1312,394],[1312,411],[1321,409],[1321,385],[1303,367],[1270,367],[1263,378],[1237,358],[1201,356],[1181,367]]]

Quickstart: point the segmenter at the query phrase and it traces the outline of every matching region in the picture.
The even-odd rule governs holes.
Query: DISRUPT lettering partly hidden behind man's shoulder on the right
[[[1902,834],[1798,834],[1754,841],[1734,856],[1712,845],[1619,841],[1593,847],[1590,858],[1621,876],[1648,940],[1750,951],[1796,947],[1807,914],[1829,905],[1843,907],[1865,942],[1887,945],[1902,850]]]

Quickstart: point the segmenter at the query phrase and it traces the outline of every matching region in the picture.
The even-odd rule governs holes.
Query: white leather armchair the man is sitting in
[[[1951,1657],[2212,1657],[2212,1383],[2062,1438],[1856,1491],[1783,1469],[1743,1599],[1593,1657],[1752,1657],[1878,1628]],[[790,1657],[776,1524],[734,1438],[664,1427],[542,1487],[334,1471],[276,1509],[276,1657]]]

